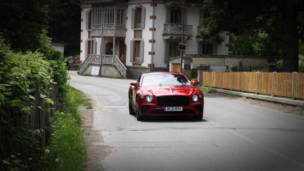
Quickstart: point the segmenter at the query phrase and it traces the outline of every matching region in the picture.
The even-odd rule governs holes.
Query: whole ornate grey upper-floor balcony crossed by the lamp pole
[[[192,39],[192,25],[184,25],[184,39],[191,40]],[[164,34],[163,39],[181,39],[182,34],[182,25],[181,24],[164,24]]]

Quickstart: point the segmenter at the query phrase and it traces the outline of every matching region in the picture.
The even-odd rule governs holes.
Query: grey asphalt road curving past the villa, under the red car
[[[92,96],[94,145],[107,155],[95,170],[304,170],[304,117],[205,94],[204,117],[128,112],[130,79],[71,76]]]

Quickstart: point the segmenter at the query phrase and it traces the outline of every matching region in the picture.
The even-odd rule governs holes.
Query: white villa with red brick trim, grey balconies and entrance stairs
[[[82,0],[80,73],[90,74],[95,66],[101,75],[137,78],[180,72],[181,54],[228,55],[229,33],[221,34],[222,44],[198,36],[211,9],[212,0]],[[187,44],[186,51],[178,43]]]

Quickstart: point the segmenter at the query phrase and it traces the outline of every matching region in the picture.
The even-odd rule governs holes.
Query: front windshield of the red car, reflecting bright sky
[[[174,74],[155,74],[145,75],[143,77],[142,86],[149,85],[191,85],[184,75]]]

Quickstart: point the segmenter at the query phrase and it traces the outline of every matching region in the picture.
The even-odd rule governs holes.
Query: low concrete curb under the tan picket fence
[[[237,96],[245,96],[245,97],[250,97],[250,98],[254,98],[254,99],[261,99],[261,100],[268,100],[268,101],[286,103],[286,104],[297,105],[297,106],[304,106],[303,100],[293,100],[293,99],[288,99],[288,98],[283,98],[283,97],[271,97],[271,96],[267,96],[267,95],[257,95],[257,94],[253,94],[253,93],[235,92],[235,91],[223,90],[223,89],[214,89],[214,90],[216,92],[234,94]]]

